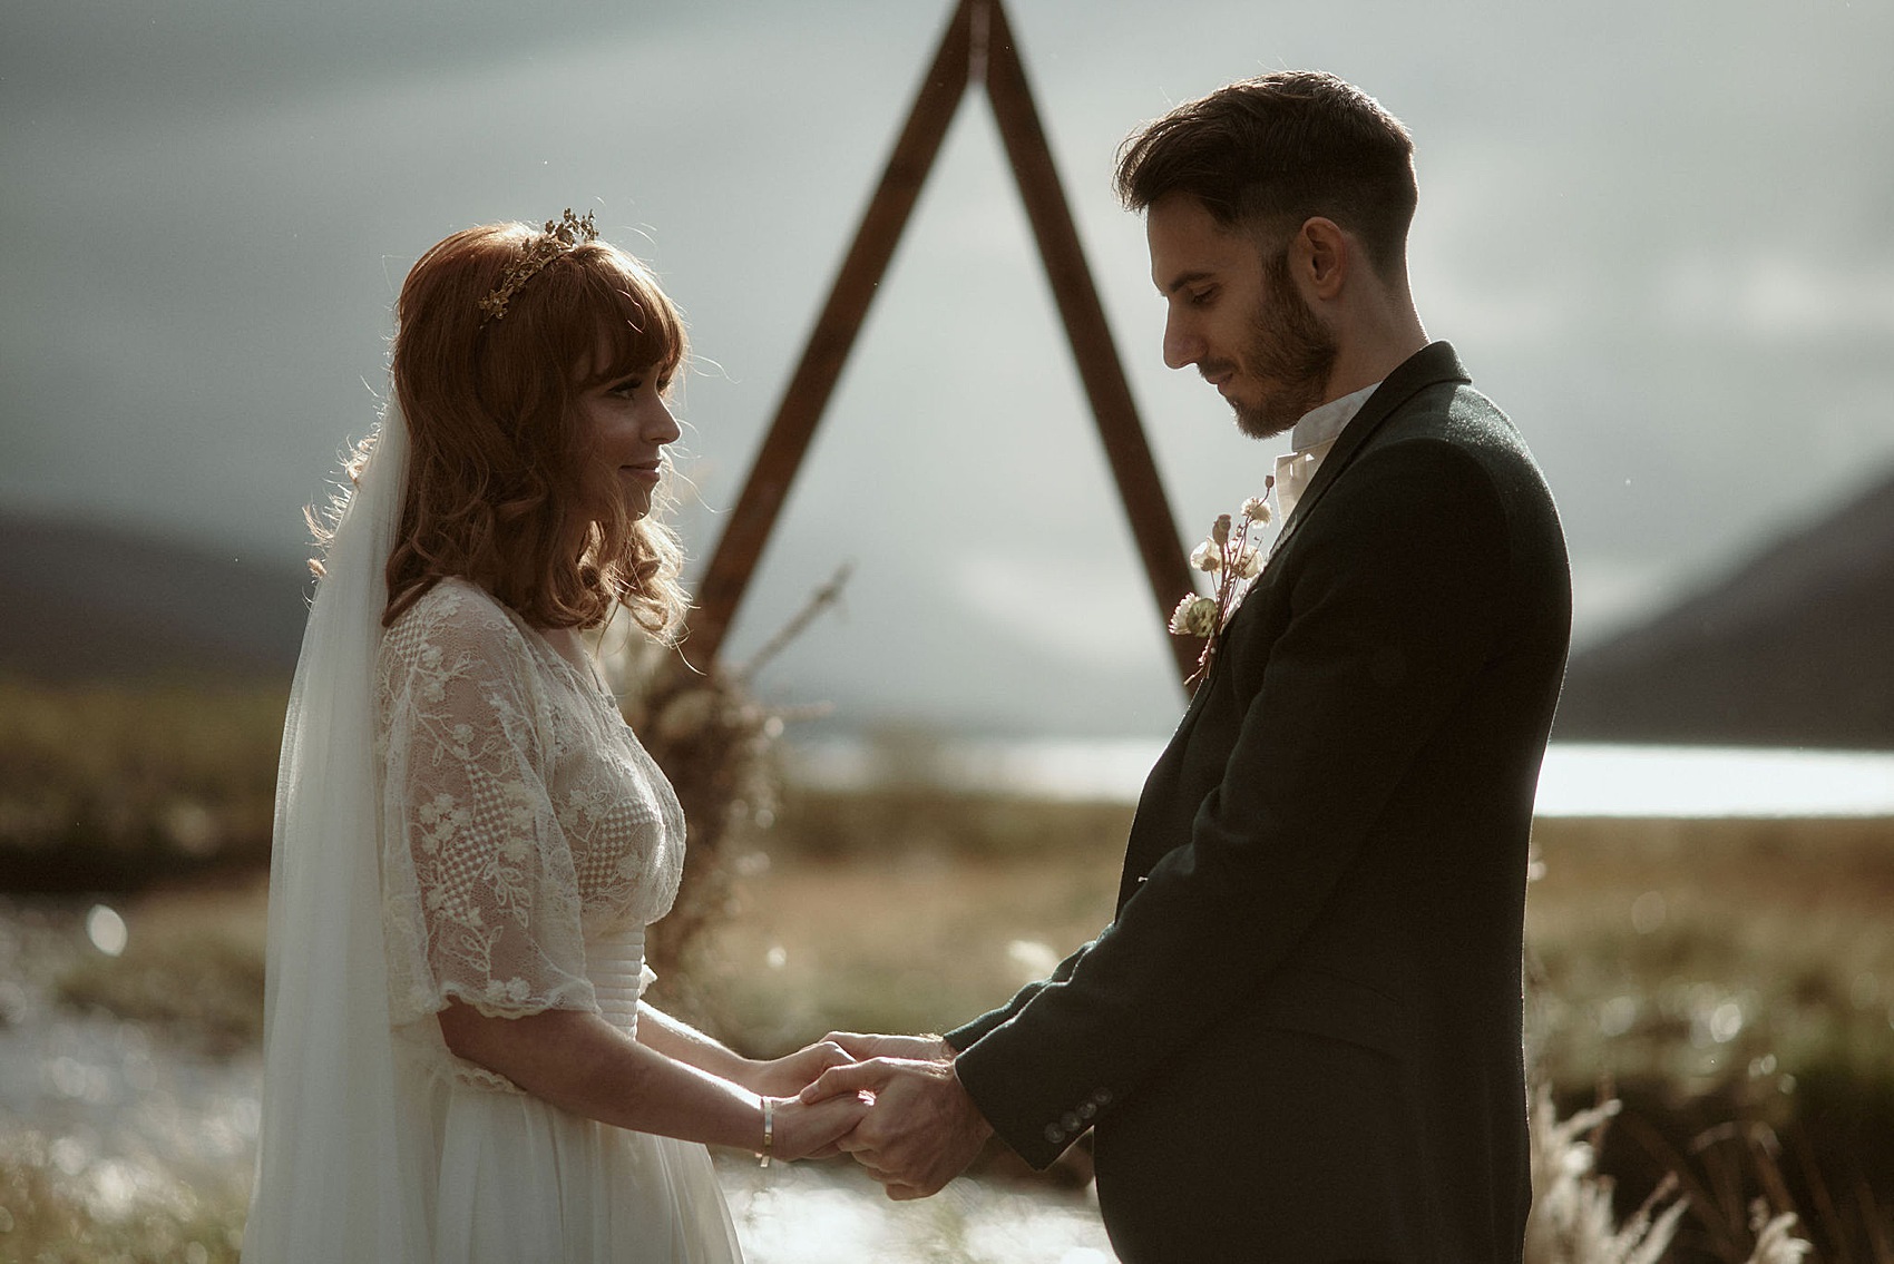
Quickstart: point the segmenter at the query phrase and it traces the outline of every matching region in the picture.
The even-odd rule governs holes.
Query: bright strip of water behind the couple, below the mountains
[[[956,789],[1135,802],[1161,740],[941,742],[884,749],[867,740],[788,744],[794,780],[862,789],[922,778]],[[1540,816],[1803,817],[1894,816],[1894,753],[1703,746],[1553,744]]]

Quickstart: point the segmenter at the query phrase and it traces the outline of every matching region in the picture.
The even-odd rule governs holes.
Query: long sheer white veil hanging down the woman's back
[[[375,660],[407,424],[390,399],[324,558],[282,730],[246,1264],[428,1260],[428,1122],[400,1090],[381,923]]]

